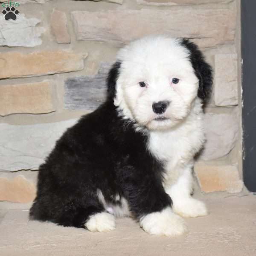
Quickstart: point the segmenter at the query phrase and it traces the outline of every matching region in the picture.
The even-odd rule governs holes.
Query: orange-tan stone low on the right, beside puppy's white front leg
[[[243,182],[236,165],[198,162],[194,167],[199,184],[204,192],[241,192]]]

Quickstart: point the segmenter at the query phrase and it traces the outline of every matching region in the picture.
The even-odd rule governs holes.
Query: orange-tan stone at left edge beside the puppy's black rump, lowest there
[[[0,177],[0,201],[29,203],[35,199],[35,184],[22,175],[13,179]]]

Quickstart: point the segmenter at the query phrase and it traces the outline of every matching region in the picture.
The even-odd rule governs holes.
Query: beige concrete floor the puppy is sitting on
[[[28,221],[28,205],[2,202],[0,255],[256,256],[256,195],[200,197],[210,214],[186,219],[189,233],[174,238],[150,236],[129,218],[117,220],[109,233]]]

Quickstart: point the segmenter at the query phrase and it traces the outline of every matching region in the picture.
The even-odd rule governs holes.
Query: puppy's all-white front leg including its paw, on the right
[[[191,197],[193,189],[192,165],[187,166],[177,182],[166,187],[166,193],[173,201],[172,209],[185,218],[207,215],[205,204]]]

